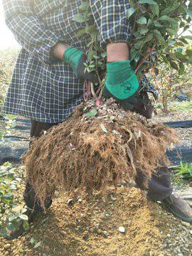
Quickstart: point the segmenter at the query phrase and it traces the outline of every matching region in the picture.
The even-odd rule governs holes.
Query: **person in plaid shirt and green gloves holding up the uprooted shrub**
[[[77,33],[85,28],[74,16],[82,0],[3,0],[6,24],[21,45],[3,111],[31,119],[31,137],[63,122],[83,101],[83,81],[95,82],[94,73],[85,72],[87,38]],[[107,49],[107,78],[104,96],[113,97],[125,110],[139,111],[141,85],[129,61],[127,21],[129,1],[90,0],[101,46]],[[143,113],[144,114],[144,113]],[[137,184],[142,177],[137,171]],[[182,220],[192,222],[192,210],[175,196],[166,167],[149,180],[148,196],[164,201]],[[26,182],[24,201],[29,221],[43,208],[30,183]],[[46,199],[47,208],[51,198]],[[16,238],[22,228],[9,238]]]

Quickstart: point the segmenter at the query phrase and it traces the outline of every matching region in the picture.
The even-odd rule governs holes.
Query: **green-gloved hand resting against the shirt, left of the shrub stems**
[[[70,65],[73,72],[80,80],[88,80],[93,83],[98,82],[96,73],[85,72],[84,63],[86,62],[87,57],[81,50],[78,50],[75,47],[68,48],[63,54],[63,60]]]

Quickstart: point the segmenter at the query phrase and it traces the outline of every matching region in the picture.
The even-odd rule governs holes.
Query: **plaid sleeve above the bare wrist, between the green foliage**
[[[125,43],[130,36],[130,26],[127,10],[130,8],[127,0],[90,0],[92,15],[100,34],[100,43]]]

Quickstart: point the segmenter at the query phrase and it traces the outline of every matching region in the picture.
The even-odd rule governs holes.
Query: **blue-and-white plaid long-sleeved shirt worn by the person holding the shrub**
[[[3,0],[6,24],[22,49],[18,55],[3,111],[47,123],[62,122],[82,102],[82,83],[73,70],[53,58],[58,42],[86,50],[76,34],[85,23],[73,21],[82,0]],[[126,42],[126,0],[90,0],[100,42]]]

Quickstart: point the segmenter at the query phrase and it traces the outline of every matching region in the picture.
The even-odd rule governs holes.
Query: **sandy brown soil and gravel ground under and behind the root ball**
[[[191,110],[159,112],[152,122],[178,119],[191,119]],[[182,144],[191,143],[191,129],[178,129],[178,134]],[[21,165],[15,167],[24,172]],[[176,191],[183,186],[190,187],[177,183]],[[16,190],[18,201],[22,191],[23,178]],[[0,238],[0,255],[189,256],[191,236],[191,224],[174,218],[161,203],[147,201],[139,189],[122,186],[117,193],[110,189],[106,201],[96,192],[92,198],[83,191],[58,195],[46,216],[38,216],[25,235],[12,241]]]

